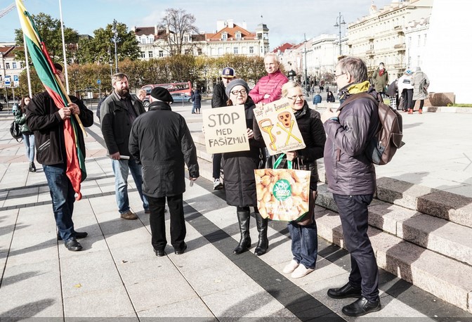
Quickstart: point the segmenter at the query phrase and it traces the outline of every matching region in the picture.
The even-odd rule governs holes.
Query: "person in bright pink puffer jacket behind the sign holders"
[[[254,103],[267,104],[277,101],[282,96],[282,85],[289,79],[280,71],[279,56],[268,53],[264,58],[265,71],[267,75],[259,79],[256,86],[249,91]]]

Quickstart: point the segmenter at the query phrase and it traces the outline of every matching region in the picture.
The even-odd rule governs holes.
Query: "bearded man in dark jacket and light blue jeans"
[[[136,117],[145,112],[143,103],[129,94],[128,76],[118,73],[112,77],[114,91],[101,105],[101,128],[103,139],[107,145],[108,154],[112,159],[114,172],[114,190],[120,217],[123,219],[138,219],[131,211],[128,198],[128,174],[131,172],[136,189],[143,201],[146,214],[149,213],[149,204],[143,195],[143,176],[141,166],[131,157],[128,150],[129,133]]]

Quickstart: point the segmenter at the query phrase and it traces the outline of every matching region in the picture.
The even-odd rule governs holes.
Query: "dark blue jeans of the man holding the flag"
[[[74,212],[75,191],[65,174],[64,165],[43,165],[43,169],[53,200],[55,224],[58,226],[60,237],[67,241],[74,234],[72,212]]]

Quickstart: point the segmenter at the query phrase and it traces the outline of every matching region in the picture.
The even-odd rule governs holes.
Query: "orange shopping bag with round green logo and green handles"
[[[275,169],[284,154],[275,161],[274,169],[256,169],[257,207],[263,218],[280,221],[299,221],[308,213],[310,172]]]

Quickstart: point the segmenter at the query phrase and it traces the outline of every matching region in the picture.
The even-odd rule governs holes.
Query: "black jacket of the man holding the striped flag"
[[[79,119],[84,127],[91,127],[93,112],[79,98],[69,97],[72,103],[79,105]],[[59,108],[46,91],[33,96],[26,106],[26,124],[34,131],[38,162],[41,165],[65,165],[64,122],[60,118]],[[84,134],[80,128],[77,131],[77,141],[85,156]]]

